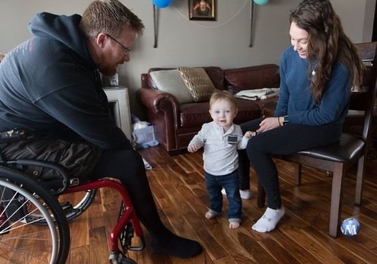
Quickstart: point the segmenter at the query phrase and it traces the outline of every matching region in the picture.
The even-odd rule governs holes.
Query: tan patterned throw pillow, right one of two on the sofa
[[[194,101],[208,101],[215,86],[203,68],[178,67],[179,73],[185,82]]]

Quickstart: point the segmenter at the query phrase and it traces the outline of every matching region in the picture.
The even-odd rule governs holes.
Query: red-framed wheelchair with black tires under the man
[[[59,177],[40,180],[24,166],[54,169]],[[116,180],[83,181],[61,165],[39,160],[3,160],[0,152],[0,264],[64,264],[70,249],[68,221],[92,203],[96,190],[109,187],[122,197],[118,221],[109,235],[109,263],[136,264],[128,250],[143,250],[144,236],[131,199]],[[64,194],[80,193],[70,203]],[[120,249],[119,245],[121,245]]]

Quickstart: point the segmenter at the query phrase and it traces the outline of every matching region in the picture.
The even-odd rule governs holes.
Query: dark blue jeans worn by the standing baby
[[[239,177],[237,169],[226,175],[212,175],[205,172],[205,187],[207,187],[210,209],[216,213],[222,211],[222,193],[224,187],[228,197],[228,219],[241,219],[242,200],[239,196]]]

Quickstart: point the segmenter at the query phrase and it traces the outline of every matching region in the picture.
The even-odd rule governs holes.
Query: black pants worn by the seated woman
[[[255,131],[261,119],[255,119],[241,125],[242,132]],[[281,207],[281,195],[278,184],[278,171],[272,160],[272,154],[294,154],[303,149],[329,145],[339,141],[341,125],[285,125],[253,136],[246,149],[239,151],[239,189],[250,189],[250,163],[263,189],[268,207]]]

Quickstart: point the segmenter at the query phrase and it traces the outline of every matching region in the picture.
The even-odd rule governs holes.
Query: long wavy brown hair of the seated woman
[[[308,77],[313,71],[313,59],[317,60],[315,76],[311,78],[311,92],[316,104],[320,104],[324,88],[330,79],[336,61],[348,69],[351,85],[359,86],[363,73],[356,48],[343,32],[339,16],[328,0],[304,0],[289,14],[289,22],[308,32]]]

